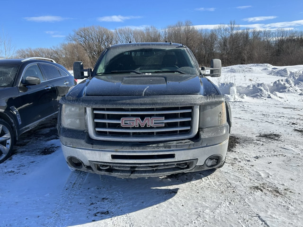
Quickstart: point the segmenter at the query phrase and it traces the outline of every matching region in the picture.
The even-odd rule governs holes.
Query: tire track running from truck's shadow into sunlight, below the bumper
[[[104,196],[113,199],[113,202],[107,203],[108,209],[110,213],[112,213],[112,218],[110,219],[109,226],[117,226],[117,227],[134,227],[134,224],[132,223],[130,216],[128,213],[126,213],[125,209],[125,200],[123,198],[123,192],[121,192],[121,185],[114,185],[111,184],[112,187],[108,184],[109,181],[116,183],[121,179],[114,178],[107,175],[100,175],[100,181],[102,183],[102,186],[105,187],[105,194]]]

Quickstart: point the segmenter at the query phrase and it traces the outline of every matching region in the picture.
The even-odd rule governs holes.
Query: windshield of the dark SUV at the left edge
[[[0,64],[0,87],[12,87],[19,65]]]

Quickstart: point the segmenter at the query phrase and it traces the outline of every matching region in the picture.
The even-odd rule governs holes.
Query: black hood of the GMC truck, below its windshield
[[[78,89],[77,89],[78,88]],[[82,92],[80,92],[80,90]],[[68,95],[83,96],[158,96],[217,95],[205,77],[187,74],[104,75],[78,84]]]

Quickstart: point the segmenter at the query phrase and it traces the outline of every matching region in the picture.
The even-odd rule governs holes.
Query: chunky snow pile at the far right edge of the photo
[[[301,90],[296,87],[296,85],[303,85],[303,74],[292,75],[286,79],[279,79],[273,82],[271,88],[271,93],[277,92],[291,92],[291,93],[301,93]]]

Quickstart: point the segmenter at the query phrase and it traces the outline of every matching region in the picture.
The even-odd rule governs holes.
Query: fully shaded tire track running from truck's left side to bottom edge
[[[88,173],[82,171],[72,171],[69,174],[56,202],[55,209],[52,212],[53,216],[48,222],[48,227],[66,226],[68,215],[72,211],[72,202],[82,187],[87,175]]]

